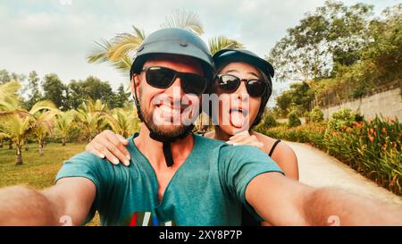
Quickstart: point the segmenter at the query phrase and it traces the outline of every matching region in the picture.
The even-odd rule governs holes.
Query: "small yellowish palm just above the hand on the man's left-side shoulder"
[[[105,129],[105,122],[102,114],[107,110],[107,106],[100,100],[96,102],[89,100],[82,103],[77,109],[76,118],[80,127],[84,130],[85,137],[91,141],[93,136]]]

